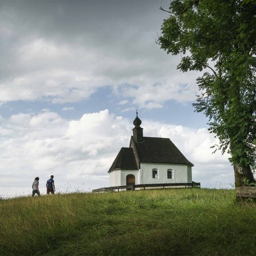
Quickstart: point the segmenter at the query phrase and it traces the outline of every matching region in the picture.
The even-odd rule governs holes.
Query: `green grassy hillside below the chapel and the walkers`
[[[256,205],[234,190],[0,200],[0,255],[255,255]]]

